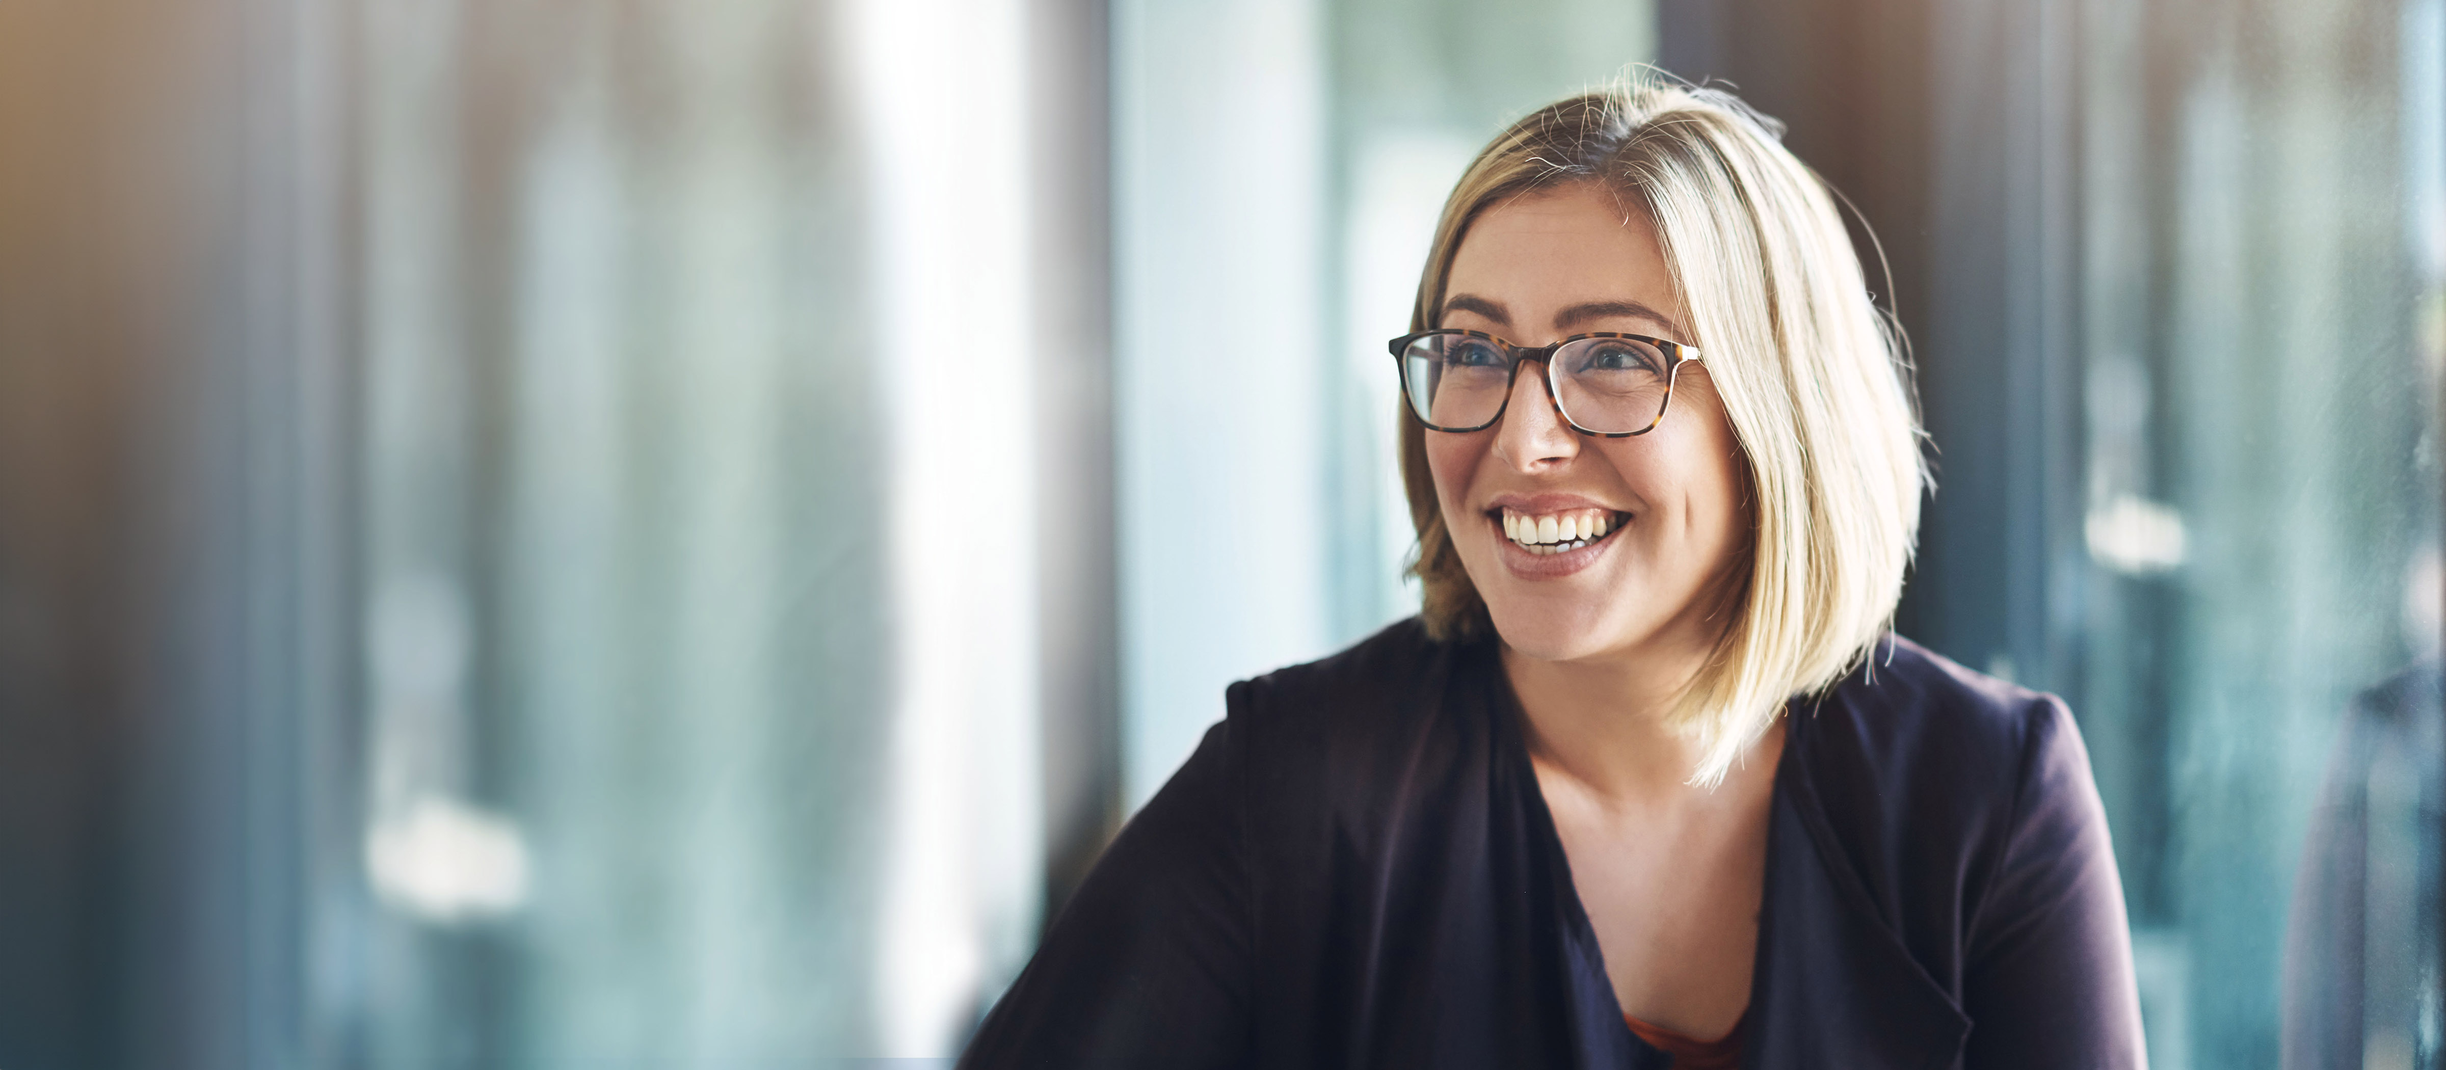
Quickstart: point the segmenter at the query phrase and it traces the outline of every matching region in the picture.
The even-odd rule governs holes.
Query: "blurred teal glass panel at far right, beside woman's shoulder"
[[[2439,2],[2082,20],[2067,691],[2152,1065],[2436,1065]]]

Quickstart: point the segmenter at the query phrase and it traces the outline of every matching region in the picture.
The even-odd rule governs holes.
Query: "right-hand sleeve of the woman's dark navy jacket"
[[[2145,1068],[2123,882],[2062,701],[2028,713],[2011,831],[1969,919],[1967,1070]]]

